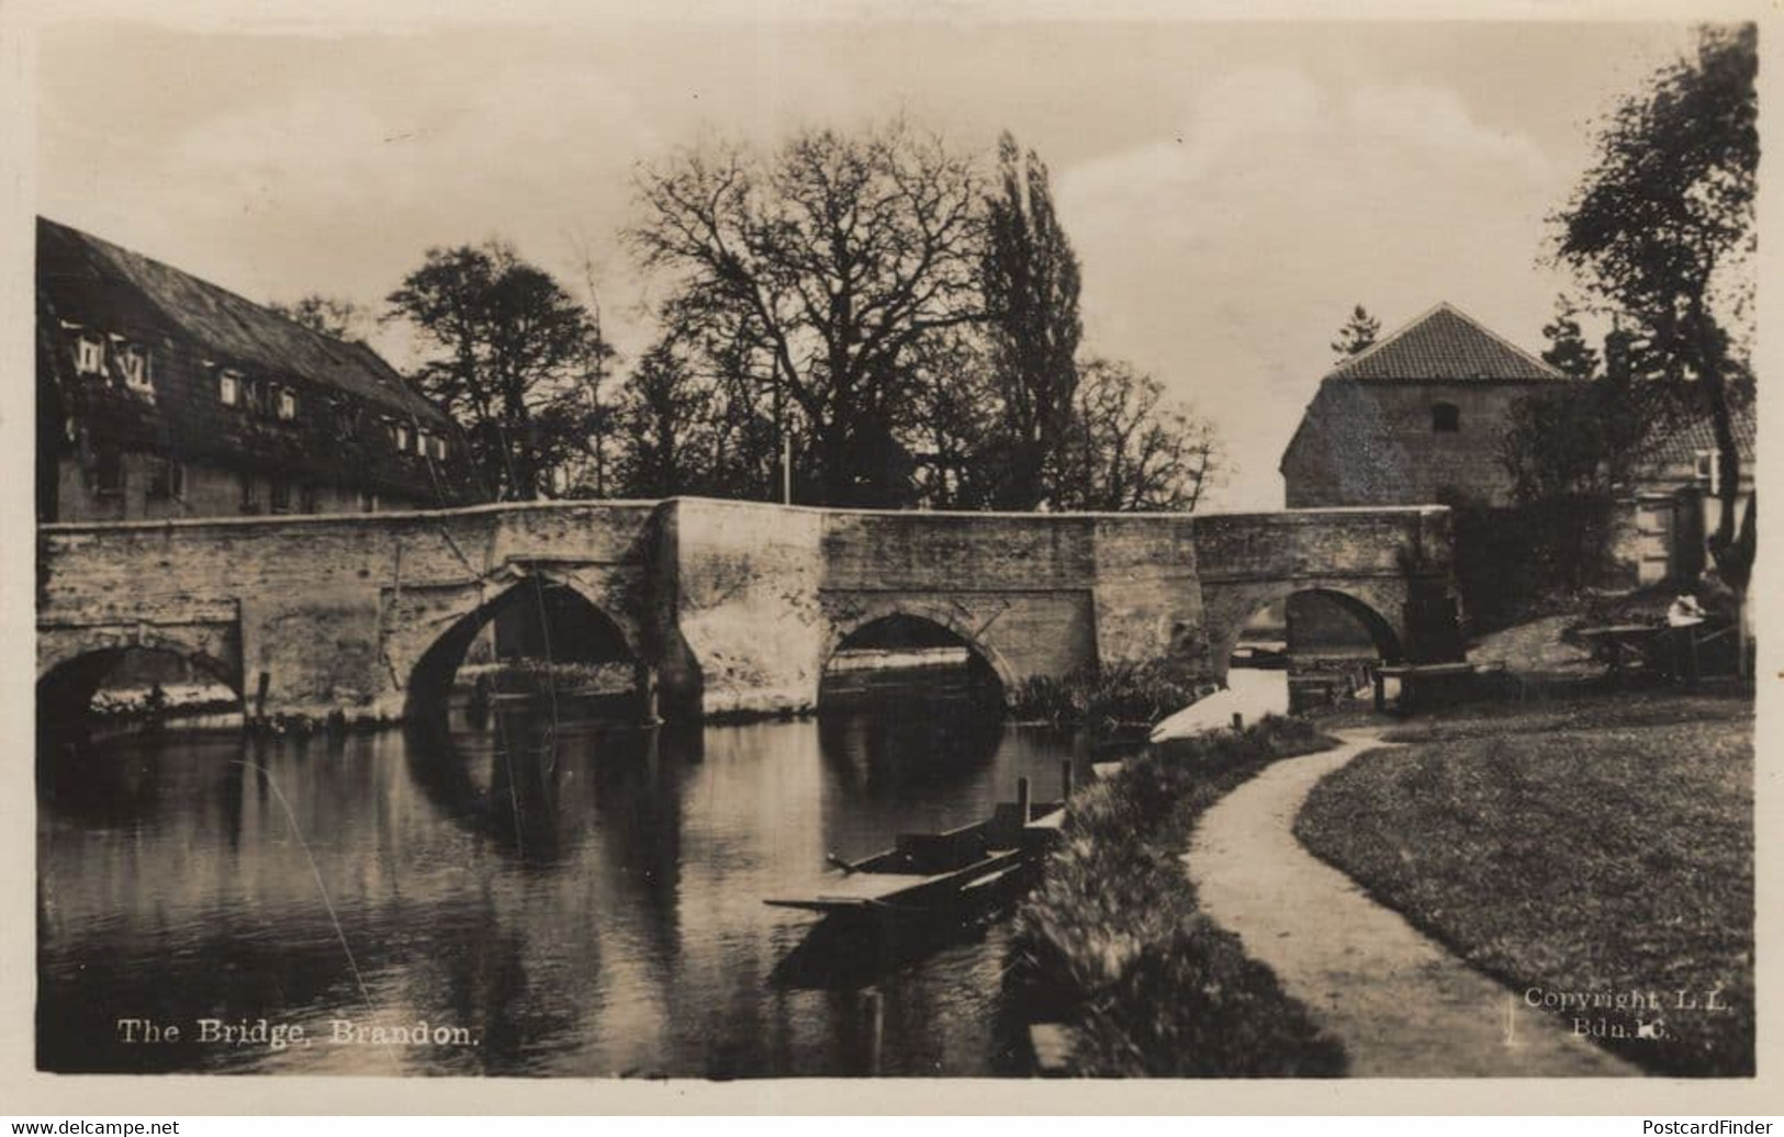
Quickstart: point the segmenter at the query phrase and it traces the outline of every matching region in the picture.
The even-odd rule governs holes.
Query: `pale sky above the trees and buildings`
[[[501,237],[628,358],[651,282],[635,178],[717,139],[904,114],[1040,153],[1083,266],[1085,355],[1213,419],[1211,508],[1277,472],[1350,307],[1450,301],[1540,349],[1550,228],[1595,123],[1679,23],[674,20],[339,27],[78,20],[36,53],[37,212],[252,299],[382,308],[430,246]],[[371,342],[403,365],[394,326]]]

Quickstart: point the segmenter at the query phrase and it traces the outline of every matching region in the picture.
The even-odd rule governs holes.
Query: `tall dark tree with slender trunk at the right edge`
[[[1700,29],[1691,53],[1616,109],[1597,164],[1554,217],[1559,258],[1634,321],[1663,374],[1709,410],[1725,487],[1739,485],[1734,410],[1752,385],[1723,317],[1741,317],[1754,289],[1757,62],[1754,25]],[[1748,501],[1738,522],[1734,494],[1723,494],[1709,538],[1739,592],[1752,517]]]

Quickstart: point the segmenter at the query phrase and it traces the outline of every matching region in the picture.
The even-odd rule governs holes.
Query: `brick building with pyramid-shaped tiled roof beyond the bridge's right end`
[[[1283,453],[1288,508],[1506,504],[1518,399],[1568,376],[1440,303],[1320,380]]]

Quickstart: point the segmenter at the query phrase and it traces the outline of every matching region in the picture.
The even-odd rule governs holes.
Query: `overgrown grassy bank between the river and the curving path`
[[[1076,1028],[1092,1076],[1333,1076],[1343,1051],[1197,907],[1183,850],[1204,809],[1277,757],[1329,745],[1267,718],[1169,743],[1072,798],[1067,838],[1015,916],[1008,982]]]

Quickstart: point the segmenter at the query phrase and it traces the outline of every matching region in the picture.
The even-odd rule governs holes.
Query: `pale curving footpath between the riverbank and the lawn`
[[[1352,1076],[1638,1075],[1301,847],[1293,823],[1313,784],[1381,745],[1375,732],[1340,738],[1202,814],[1185,857],[1202,909],[1343,1043]]]

